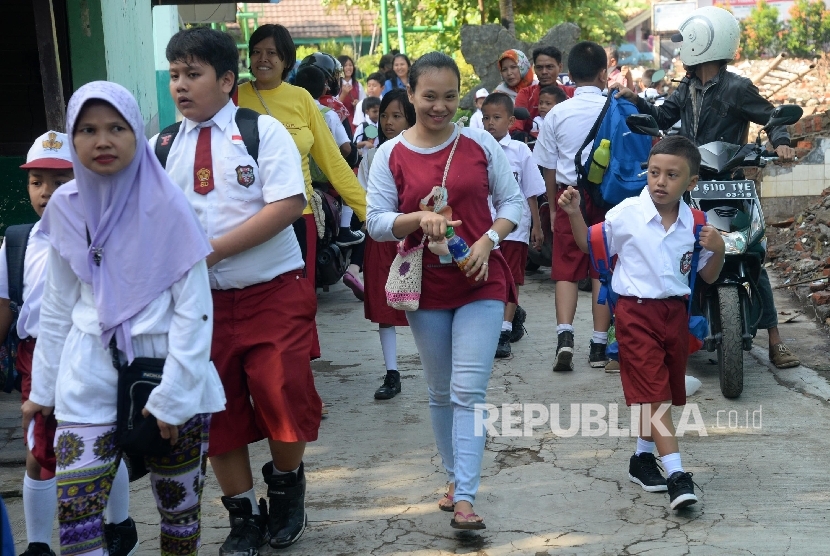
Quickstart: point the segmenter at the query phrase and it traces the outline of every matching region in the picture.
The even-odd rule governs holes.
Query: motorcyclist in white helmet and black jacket
[[[641,113],[654,116],[660,129],[668,129],[680,120],[680,134],[698,146],[712,141],[746,144],[749,122],[765,125],[774,106],[758,93],[752,81],[727,70],[740,44],[735,17],[722,8],[699,8],[683,22],[672,41],[683,43],[680,59],[687,74],[661,106],[652,105],[629,89],[612,86],[619,89],[616,96],[636,104]],[[768,136],[781,160],[795,157],[786,126],[770,129]],[[778,311],[764,268],[758,289],[764,307],[758,328],[769,332],[770,361],[779,369],[797,367],[798,357],[778,332]]]

